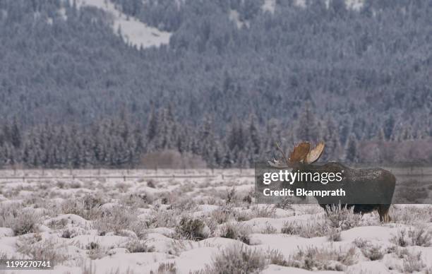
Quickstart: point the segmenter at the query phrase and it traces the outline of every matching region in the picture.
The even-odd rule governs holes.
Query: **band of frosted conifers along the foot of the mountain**
[[[392,132],[386,136],[385,131],[379,131],[373,140],[379,143],[421,138],[409,129]],[[277,144],[288,153],[299,141],[320,140],[326,144],[323,160],[365,160],[359,153],[362,141],[352,129],[337,126],[331,117],[317,119],[306,104],[298,121],[288,128],[277,119],[260,126],[251,115],[246,120],[233,119],[222,133],[215,131],[211,117],[205,117],[197,126],[182,124],[171,108],[153,110],[145,126],[131,123],[124,114],[88,126],[47,121],[24,131],[18,119],[13,119],[0,128],[0,167],[146,167],[145,155],[167,150],[200,157],[207,167],[253,167],[255,162],[280,157]]]

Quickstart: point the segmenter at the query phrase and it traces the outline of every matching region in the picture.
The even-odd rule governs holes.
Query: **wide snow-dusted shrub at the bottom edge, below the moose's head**
[[[356,250],[354,247],[344,251],[330,247],[308,247],[299,249],[290,256],[287,266],[304,268],[306,270],[336,270],[344,271],[347,266],[356,263]]]

